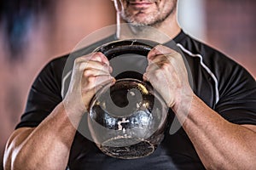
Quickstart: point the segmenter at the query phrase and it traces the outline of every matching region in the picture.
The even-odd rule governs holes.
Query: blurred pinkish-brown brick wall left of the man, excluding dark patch
[[[34,20],[26,32],[22,54],[9,53],[5,27],[0,24],[0,169],[3,169],[4,145],[20,120],[28,90],[38,71],[50,59],[72,50],[92,31],[115,23],[111,1],[49,2],[55,2],[51,10]]]

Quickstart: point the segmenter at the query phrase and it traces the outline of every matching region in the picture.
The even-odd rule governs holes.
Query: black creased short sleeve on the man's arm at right
[[[219,76],[219,101],[215,107],[221,116],[236,124],[256,125],[255,79],[241,65],[226,63]]]

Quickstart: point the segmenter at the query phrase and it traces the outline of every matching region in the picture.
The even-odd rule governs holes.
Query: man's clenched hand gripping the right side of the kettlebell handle
[[[177,111],[184,99],[191,100],[193,91],[181,54],[158,45],[148,53],[148,67],[144,80],[166,100],[166,104]]]

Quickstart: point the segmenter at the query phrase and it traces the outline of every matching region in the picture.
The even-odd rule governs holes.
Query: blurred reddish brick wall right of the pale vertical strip
[[[256,1],[207,0],[207,42],[256,77]]]

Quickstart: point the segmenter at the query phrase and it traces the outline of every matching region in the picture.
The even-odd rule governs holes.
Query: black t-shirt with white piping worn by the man
[[[73,57],[66,55],[50,61],[33,82],[26,111],[16,128],[37,127],[61,102],[71,77],[70,71],[66,69],[67,59],[89,54],[94,48],[114,39],[114,37],[108,37],[73,53]],[[177,48],[183,52],[189,64],[188,68],[192,76],[190,83],[195,94],[229,122],[256,125],[254,78],[241,65],[189,37],[183,31],[174,38],[174,42],[177,43]],[[168,43],[165,45],[168,46]],[[166,133],[165,139],[152,155],[134,160],[106,156],[96,147],[96,144],[77,133],[70,152],[68,167],[109,170],[204,169],[183,128],[172,135]]]

